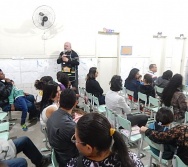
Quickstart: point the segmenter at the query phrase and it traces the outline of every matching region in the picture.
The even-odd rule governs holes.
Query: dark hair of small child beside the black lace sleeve
[[[156,122],[161,122],[162,125],[167,125],[174,121],[174,114],[172,111],[167,107],[161,107],[156,114]]]

